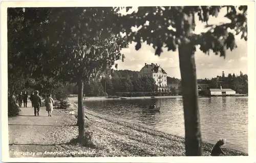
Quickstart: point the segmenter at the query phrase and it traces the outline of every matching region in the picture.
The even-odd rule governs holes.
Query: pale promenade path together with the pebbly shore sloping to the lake
[[[71,110],[76,104],[71,103]],[[184,139],[151,128],[111,119],[92,111],[86,111],[86,131],[93,132],[95,147],[70,143],[77,137],[77,119],[55,109],[48,117],[45,107],[40,116],[33,116],[33,109],[21,108],[18,117],[9,119],[9,147],[11,157],[93,157],[93,156],[184,156]],[[205,156],[210,154],[211,144],[203,144]],[[56,153],[47,153],[47,152]],[[76,153],[71,153],[71,152]],[[28,152],[20,155],[17,152]],[[34,153],[29,153],[34,152]],[[38,153],[37,153],[38,152]],[[41,152],[41,153],[39,153]],[[228,155],[247,155],[224,149]],[[26,153],[25,153],[26,154]]]

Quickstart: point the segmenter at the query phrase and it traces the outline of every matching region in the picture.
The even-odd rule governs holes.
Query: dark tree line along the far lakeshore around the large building
[[[148,92],[158,91],[155,80],[151,77],[140,78],[138,73],[130,70],[114,71],[112,79],[103,78],[99,81],[91,81],[90,83],[84,84],[83,94],[88,97],[115,95],[157,96],[158,94],[148,94]],[[222,72],[221,76],[211,79],[198,79],[197,81],[200,85],[205,84],[206,88],[219,88],[221,85],[222,88],[233,89],[239,94],[248,94],[248,76],[242,72],[239,75],[228,74],[228,76],[225,76],[224,72]],[[170,84],[170,86],[168,86],[169,92],[166,92],[166,95],[182,95],[180,79],[167,76],[167,84]],[[172,84],[176,86],[172,86]],[[68,91],[70,94],[77,94],[78,88],[74,84],[71,84],[68,85]],[[117,92],[119,93],[117,94]],[[147,92],[147,94],[143,94],[143,92]]]

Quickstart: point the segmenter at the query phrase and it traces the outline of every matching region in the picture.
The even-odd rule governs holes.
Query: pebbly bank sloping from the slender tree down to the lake
[[[71,101],[69,111],[76,111],[77,105]],[[93,133],[95,147],[64,144],[61,148],[70,151],[95,151],[95,154],[78,154],[84,156],[184,156],[184,138],[156,131],[150,127],[113,119],[93,111],[86,111],[87,131]],[[73,124],[76,122],[74,121]],[[68,128],[65,134],[78,133],[77,127]],[[213,145],[203,143],[203,155],[209,156]],[[235,150],[224,149],[229,156],[247,155]]]

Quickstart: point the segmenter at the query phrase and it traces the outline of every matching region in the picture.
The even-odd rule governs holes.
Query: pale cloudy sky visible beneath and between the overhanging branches
[[[218,17],[209,17],[208,25],[218,25],[223,22],[229,22],[230,20],[225,18],[226,8],[223,8]],[[195,33],[201,33],[207,31],[208,29],[204,28],[206,23],[203,23],[198,20],[196,14],[196,29]],[[136,29],[135,29],[136,30]],[[230,31],[231,32],[231,31]],[[206,55],[201,52],[199,49],[195,53],[195,60],[197,66],[197,78],[211,79],[217,75],[222,75],[224,71],[227,76],[228,73],[231,74],[240,74],[240,71],[243,74],[247,74],[247,42],[242,39],[241,35],[236,36],[236,43],[238,48],[234,49],[232,52],[228,50],[226,52],[226,58],[210,53]],[[132,71],[140,71],[145,63],[157,63],[160,65],[169,77],[181,78],[180,77],[180,68],[179,68],[179,56],[178,51],[167,51],[163,49],[160,57],[155,56],[155,51],[152,46],[143,43],[141,49],[135,50],[136,43],[129,45],[129,48],[122,49],[121,53],[124,54],[124,62],[118,60],[118,69],[130,69]]]

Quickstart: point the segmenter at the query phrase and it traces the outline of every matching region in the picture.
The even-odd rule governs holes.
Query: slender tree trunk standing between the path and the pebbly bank
[[[77,112],[77,125],[78,125],[78,141],[81,142],[84,136],[84,109],[83,109],[83,82],[80,80],[78,85],[78,112]]]

